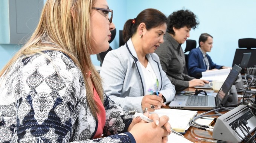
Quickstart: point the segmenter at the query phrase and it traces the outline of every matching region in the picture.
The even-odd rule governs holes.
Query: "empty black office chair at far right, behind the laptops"
[[[233,59],[232,67],[236,64],[239,65],[244,53],[251,53],[250,61],[247,67],[254,67],[256,65],[256,39],[254,38],[243,38],[238,40],[238,49],[236,49],[235,56]]]

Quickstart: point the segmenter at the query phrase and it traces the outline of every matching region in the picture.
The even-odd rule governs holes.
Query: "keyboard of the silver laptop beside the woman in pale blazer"
[[[186,102],[187,106],[207,106],[208,98],[206,96],[189,96]]]

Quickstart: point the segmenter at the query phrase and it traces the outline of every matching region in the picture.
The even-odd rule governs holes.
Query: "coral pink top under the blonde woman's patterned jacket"
[[[96,105],[98,106],[99,111],[100,111],[100,113],[97,114],[98,128],[97,128],[97,131],[96,131],[95,135],[93,136],[93,138],[99,138],[102,136],[103,128],[105,126],[106,111],[105,111],[104,105],[101,102],[101,99],[99,98],[99,95],[98,95],[97,91],[95,90],[94,86],[93,86],[93,94],[94,94],[94,100],[96,102]]]

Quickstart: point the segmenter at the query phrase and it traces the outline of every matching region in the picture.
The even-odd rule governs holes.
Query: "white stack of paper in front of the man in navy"
[[[225,81],[230,73],[231,68],[225,68],[220,70],[204,71],[202,72],[202,78],[207,81]]]

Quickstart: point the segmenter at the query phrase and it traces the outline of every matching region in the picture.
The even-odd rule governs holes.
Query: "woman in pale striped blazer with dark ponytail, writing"
[[[107,53],[100,75],[106,94],[130,113],[154,111],[175,96],[155,50],[163,43],[166,16],[145,9],[123,27],[125,45]]]

